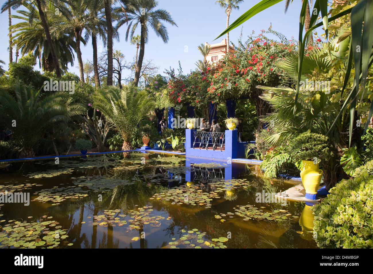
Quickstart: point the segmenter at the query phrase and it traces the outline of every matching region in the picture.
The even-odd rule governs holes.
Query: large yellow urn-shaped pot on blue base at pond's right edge
[[[301,178],[306,192],[306,198],[312,199],[311,196],[315,196],[319,189],[323,171],[319,169],[319,164],[314,164],[313,161],[302,160],[302,163],[303,170],[301,171]],[[315,198],[317,198],[317,195]]]

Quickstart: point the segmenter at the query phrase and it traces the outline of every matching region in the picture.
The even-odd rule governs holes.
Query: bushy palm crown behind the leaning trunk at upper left
[[[32,52],[35,58],[39,59],[40,67],[43,70],[52,72],[56,69],[56,64],[47,42],[39,12],[33,4],[25,4],[25,7],[27,10],[18,10],[18,15],[12,15],[12,18],[21,20],[21,22],[12,26],[12,32],[15,34],[12,46],[16,45],[16,49],[20,48],[22,56]],[[62,70],[67,70],[69,63],[73,65],[75,42],[69,34],[56,31],[53,27],[62,23],[62,18],[55,13],[55,6],[52,3],[48,3],[44,15],[48,26],[51,26],[53,30],[51,37],[53,44],[56,45],[55,51],[59,58],[59,63]]]

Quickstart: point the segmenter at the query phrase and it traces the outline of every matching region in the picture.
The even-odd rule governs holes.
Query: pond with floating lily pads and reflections
[[[12,162],[0,248],[316,248],[309,206],[265,196],[292,185],[257,166],[140,152]]]

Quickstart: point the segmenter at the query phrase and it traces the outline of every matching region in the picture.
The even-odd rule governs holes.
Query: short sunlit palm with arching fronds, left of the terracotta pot
[[[131,135],[138,123],[154,107],[154,101],[144,91],[135,91],[130,83],[122,89],[116,86],[98,89],[93,95],[95,107],[101,111],[106,122],[119,131],[123,138],[122,150],[132,150]],[[125,156],[128,153],[123,153]]]

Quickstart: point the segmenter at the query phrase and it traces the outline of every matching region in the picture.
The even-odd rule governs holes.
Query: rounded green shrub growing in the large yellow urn
[[[310,130],[291,139],[287,152],[295,161],[312,161],[314,157],[318,161],[329,160],[334,155],[329,138],[322,134],[311,133]]]

